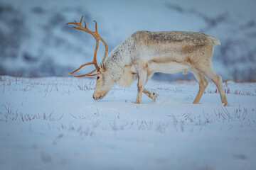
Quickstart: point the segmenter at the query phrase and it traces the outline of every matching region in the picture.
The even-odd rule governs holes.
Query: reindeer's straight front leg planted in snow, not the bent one
[[[142,103],[142,92],[144,91],[144,86],[146,84],[146,71],[142,67],[135,67],[138,74],[138,93],[135,103]]]

